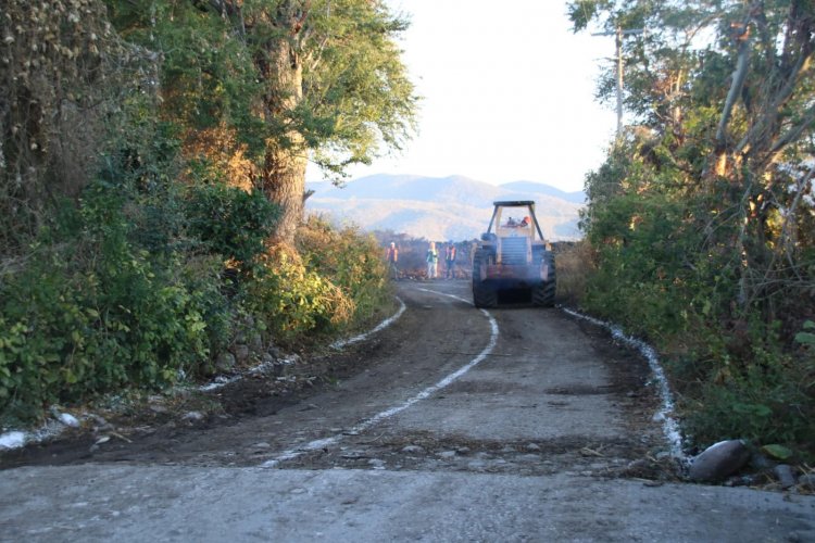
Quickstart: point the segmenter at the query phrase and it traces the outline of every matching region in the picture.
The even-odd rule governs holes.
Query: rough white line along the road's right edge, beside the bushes
[[[662,408],[654,415],[654,420],[662,420],[662,431],[665,434],[665,439],[670,445],[670,454],[681,463],[687,464],[688,457],[685,455],[685,443],[682,440],[682,433],[679,430],[679,422],[672,416],[674,413],[674,395],[670,393],[670,387],[668,386],[668,379],[665,376],[665,371],[660,365],[660,357],[656,355],[654,348],[645,343],[644,341],[638,340],[631,336],[626,336],[623,329],[616,325],[605,323],[588,315],[584,315],[574,310],[567,307],[561,307],[564,312],[573,317],[588,320],[592,325],[601,326],[609,330],[612,337],[629,348],[634,348],[645,357],[648,365],[651,368],[653,380],[656,382],[660,391],[660,400],[662,400]]]

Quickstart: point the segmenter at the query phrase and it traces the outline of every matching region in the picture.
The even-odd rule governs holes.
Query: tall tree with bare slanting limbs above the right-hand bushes
[[[811,0],[569,7],[576,30],[592,21],[651,29],[626,43],[627,103],[649,132],[641,147],[682,178],[686,197],[712,205],[702,225],[711,248],[739,262],[742,307],[777,291],[781,254],[801,249],[790,230],[801,216],[789,213],[807,190],[803,161],[814,150],[813,8]]]

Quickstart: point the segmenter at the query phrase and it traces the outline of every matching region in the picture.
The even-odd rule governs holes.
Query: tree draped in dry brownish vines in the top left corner
[[[0,17],[0,256],[24,252],[97,165],[143,67],[99,0],[4,0]]]

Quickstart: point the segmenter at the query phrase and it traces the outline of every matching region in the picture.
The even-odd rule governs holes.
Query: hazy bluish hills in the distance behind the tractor
[[[487,228],[494,200],[534,200],[544,236],[574,240],[582,192],[564,192],[534,181],[489,185],[462,176],[374,175],[343,188],[309,184],[311,213],[330,215],[340,224],[365,230],[393,230],[432,240],[462,240]]]

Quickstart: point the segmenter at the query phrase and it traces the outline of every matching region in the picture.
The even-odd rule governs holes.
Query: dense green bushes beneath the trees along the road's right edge
[[[664,355],[698,443],[745,438],[806,449],[815,442],[813,336],[808,325],[792,329],[802,321],[794,315],[811,311],[805,291],[740,300],[751,279],[747,253],[734,249],[743,220],[709,211],[720,197],[688,194],[676,173],[649,171],[636,154],[609,162],[587,180],[594,199],[582,226],[594,262],[581,306]]]

